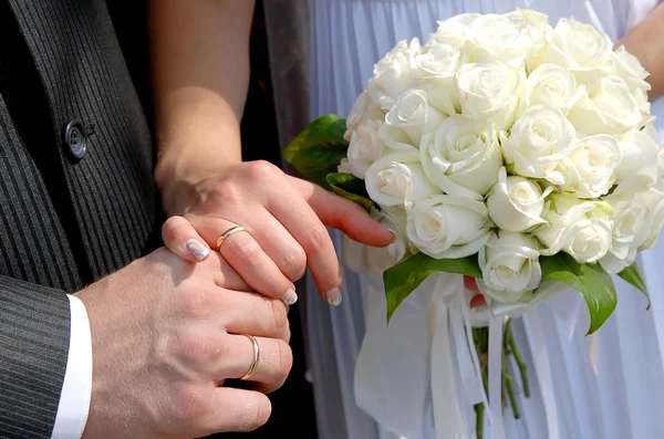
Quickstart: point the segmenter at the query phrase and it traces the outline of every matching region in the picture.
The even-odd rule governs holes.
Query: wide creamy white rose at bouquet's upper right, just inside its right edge
[[[621,134],[643,123],[636,95],[618,75],[600,76],[589,83],[568,118],[584,135]]]

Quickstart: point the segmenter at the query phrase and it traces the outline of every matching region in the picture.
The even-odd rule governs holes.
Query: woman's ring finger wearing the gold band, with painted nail
[[[201,237],[211,245],[216,245],[221,234],[239,224],[212,217],[193,218],[191,222]],[[280,299],[292,305],[298,300],[295,286],[266,254],[252,236],[252,226],[245,226],[246,231],[228,236],[217,251],[247,282],[251,290],[268,297]],[[257,226],[261,227],[260,224]],[[278,233],[278,231],[274,231]]]

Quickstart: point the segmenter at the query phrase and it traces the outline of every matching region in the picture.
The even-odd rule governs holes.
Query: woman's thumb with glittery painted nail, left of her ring
[[[164,244],[177,257],[190,261],[204,261],[210,249],[196,229],[183,217],[170,217],[162,226]]]

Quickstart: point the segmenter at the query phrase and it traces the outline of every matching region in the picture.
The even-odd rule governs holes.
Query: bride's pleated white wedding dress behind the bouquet
[[[589,22],[615,41],[656,1],[311,0],[310,4],[313,119],[328,113],[345,117],[365,88],[373,64],[397,41],[426,38],[436,30],[437,20],[461,12],[527,8],[547,13],[551,24],[560,17]],[[664,122],[658,106],[653,106],[653,114],[662,114]],[[342,237],[332,236],[341,254]],[[521,419],[505,411],[505,437],[664,438],[664,279],[657,266],[664,260],[663,241],[639,261],[651,291],[650,311],[643,295],[616,279],[618,310],[592,337],[584,336],[587,311],[573,292],[513,322],[517,343],[530,366],[532,395],[519,395]],[[419,290],[412,294],[386,327],[385,300],[376,279],[370,282],[344,270],[339,307],[320,300],[309,281],[307,335],[319,437],[450,437],[434,428],[434,406],[442,410],[442,403],[432,397],[435,344],[427,327],[425,294],[417,294]],[[459,285],[460,276],[453,276],[446,288]],[[490,437],[485,428],[485,438]]]

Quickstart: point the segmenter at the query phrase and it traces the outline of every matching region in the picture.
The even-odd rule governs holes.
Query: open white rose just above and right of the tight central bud
[[[533,108],[512,126],[509,136],[502,135],[502,155],[513,174],[543,178],[563,185],[558,165],[569,157],[574,142],[574,127],[554,107]]]

